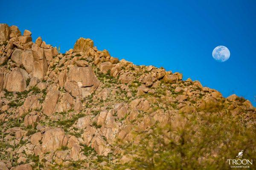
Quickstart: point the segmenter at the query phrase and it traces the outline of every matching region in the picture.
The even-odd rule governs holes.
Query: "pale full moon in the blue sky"
[[[227,47],[219,45],[212,51],[212,57],[218,62],[225,62],[230,57],[230,51]]]

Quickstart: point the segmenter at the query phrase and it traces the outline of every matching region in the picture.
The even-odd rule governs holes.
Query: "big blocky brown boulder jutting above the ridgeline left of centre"
[[[93,48],[93,40],[90,40],[89,38],[79,38],[76,41],[76,44],[74,45],[74,52],[85,52],[89,48]]]

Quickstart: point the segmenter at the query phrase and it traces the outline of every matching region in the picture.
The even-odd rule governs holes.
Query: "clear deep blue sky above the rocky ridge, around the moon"
[[[2,0],[1,0],[2,1]],[[79,37],[137,65],[163,66],[256,106],[256,1],[2,1],[0,23],[32,31],[61,52]],[[224,45],[230,59],[216,62]]]

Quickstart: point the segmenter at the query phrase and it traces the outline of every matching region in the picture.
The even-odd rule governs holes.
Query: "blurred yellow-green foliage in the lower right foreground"
[[[256,126],[230,115],[197,115],[160,123],[148,133],[139,134],[139,143],[125,144],[128,163],[113,165],[115,170],[225,170],[227,159],[256,160]],[[138,136],[137,136],[138,137]],[[136,140],[135,140],[136,141]]]

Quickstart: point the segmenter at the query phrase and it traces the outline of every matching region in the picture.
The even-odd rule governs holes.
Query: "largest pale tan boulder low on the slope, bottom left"
[[[44,133],[41,149],[43,153],[53,152],[62,146],[65,132],[61,128],[49,129]]]

